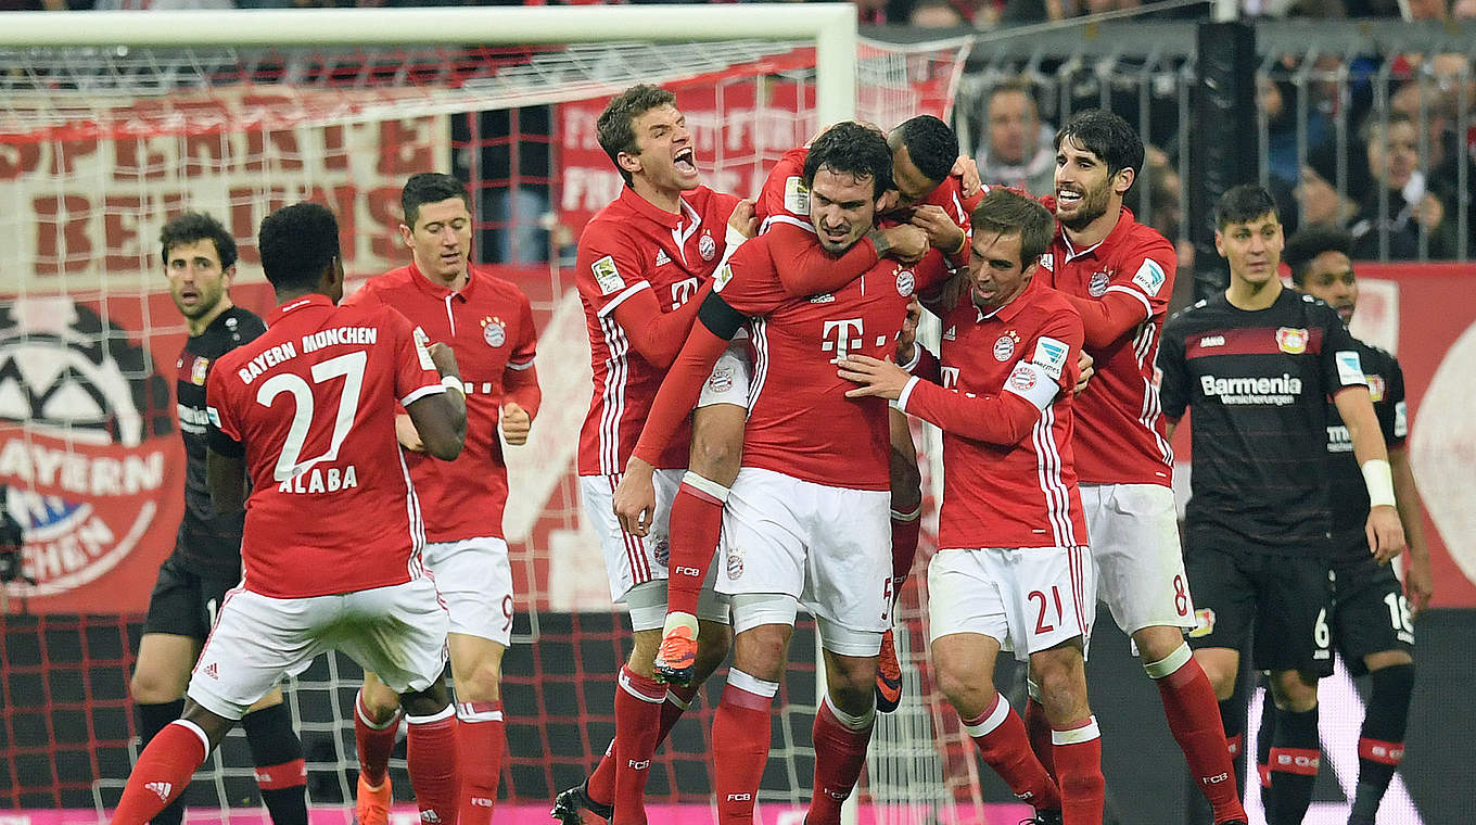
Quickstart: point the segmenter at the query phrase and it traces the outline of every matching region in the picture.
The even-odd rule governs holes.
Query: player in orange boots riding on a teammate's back
[[[887,137],[893,152],[893,183],[896,196],[890,201],[889,218],[921,229],[931,248],[943,249],[956,267],[967,266],[968,208],[965,184],[955,177],[959,162],[958,139],[953,131],[931,115],[905,121]],[[809,229],[809,195],[803,180],[807,146],[791,149],[779,159],[765,183],[756,208],[765,232],[788,236],[781,248],[806,249],[803,235]],[[790,297],[834,292],[874,266],[881,257],[915,260],[921,248],[893,248],[886,230],[868,233],[866,244],[847,251],[840,264],[793,260],[776,263],[776,275]],[[809,245],[813,246],[813,245]],[[704,427],[704,443],[729,444],[726,453],[739,455],[744,416],[731,416]],[[920,517],[922,515],[921,475],[917,468],[917,447],[906,416],[893,413],[892,429],[892,598],[906,581],[917,553]],[[697,620],[694,608],[701,583],[717,545],[723,502],[737,477],[737,466],[725,466],[722,477],[700,472],[697,466],[683,478],[672,503],[672,522],[680,525],[672,536],[672,568],[669,607],[663,627],[661,648],[654,664],[657,677],[682,683],[694,660]],[[618,505],[618,502],[617,502]],[[683,571],[688,571],[683,574]],[[902,672],[890,630],[883,638],[881,666],[877,670],[877,708],[890,713],[902,698]]]

